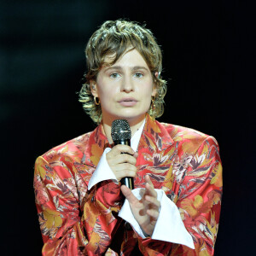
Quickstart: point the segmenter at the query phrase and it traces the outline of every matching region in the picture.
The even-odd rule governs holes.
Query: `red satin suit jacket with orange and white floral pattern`
[[[147,115],[138,146],[135,187],[145,187],[148,173],[155,189],[163,189],[177,205],[195,250],[142,239],[127,228],[117,216],[123,201],[120,187],[110,180],[88,191],[109,146],[99,125],[38,157],[34,189],[43,255],[213,255],[222,195],[216,140]]]

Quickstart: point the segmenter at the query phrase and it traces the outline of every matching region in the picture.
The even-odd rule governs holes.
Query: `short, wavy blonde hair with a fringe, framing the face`
[[[88,72],[84,74],[85,83],[79,92],[79,102],[83,103],[85,113],[99,124],[102,120],[102,108],[94,102],[94,96],[90,90],[90,82],[96,81],[107,55],[114,55],[113,65],[132,47],[143,56],[148,64],[154,80],[156,95],[154,108],[148,109],[148,113],[154,118],[164,113],[164,97],[166,96],[166,81],[160,78],[162,71],[162,54],[160,46],[156,43],[153,33],[139,25],[137,22],[127,20],[108,20],[92,34],[85,49]],[[158,76],[155,76],[158,73]]]

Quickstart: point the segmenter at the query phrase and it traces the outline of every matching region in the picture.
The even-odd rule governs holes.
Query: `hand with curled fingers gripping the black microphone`
[[[122,154],[125,153],[125,154]],[[136,177],[137,152],[130,146],[116,145],[106,154],[108,166],[111,168],[116,179],[120,181],[123,177]]]

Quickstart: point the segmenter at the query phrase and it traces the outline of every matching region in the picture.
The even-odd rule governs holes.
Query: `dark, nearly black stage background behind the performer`
[[[34,161],[94,129],[76,94],[84,47],[103,21],[128,18],[145,22],[164,52],[160,121],[218,139],[224,197],[215,255],[253,255],[253,15],[247,1],[1,1],[0,254],[40,255]]]

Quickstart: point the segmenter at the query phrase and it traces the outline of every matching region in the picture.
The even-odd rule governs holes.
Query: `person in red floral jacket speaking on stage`
[[[34,189],[43,255],[213,255],[222,195],[214,137],[155,120],[162,54],[145,26],[108,20],[86,46],[79,101],[98,125],[39,156]],[[125,119],[131,147],[113,145]],[[133,177],[135,189],[120,184]]]

